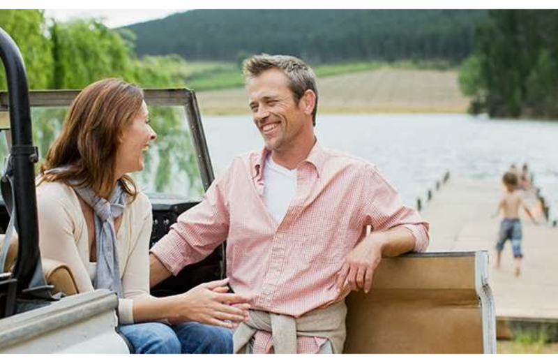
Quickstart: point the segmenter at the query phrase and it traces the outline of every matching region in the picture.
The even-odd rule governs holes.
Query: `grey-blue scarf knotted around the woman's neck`
[[[96,289],[107,289],[123,297],[122,281],[116,249],[116,230],[114,219],[124,213],[127,195],[120,184],[112,192],[109,200],[98,197],[91,188],[74,186],[74,191],[80,195],[93,211],[95,211],[95,238],[97,241],[97,276]]]

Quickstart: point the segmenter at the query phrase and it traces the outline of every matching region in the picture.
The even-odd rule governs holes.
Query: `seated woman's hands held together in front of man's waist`
[[[195,321],[232,329],[248,319],[248,299],[229,293],[228,279],[203,283],[172,299],[169,323]]]

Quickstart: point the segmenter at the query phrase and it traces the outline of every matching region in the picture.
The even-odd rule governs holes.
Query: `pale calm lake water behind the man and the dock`
[[[262,148],[249,116],[203,121],[217,172],[232,156]],[[558,123],[465,114],[335,114],[320,116],[316,133],[322,146],[375,163],[413,206],[446,171],[497,183],[512,163],[527,162],[558,218]]]

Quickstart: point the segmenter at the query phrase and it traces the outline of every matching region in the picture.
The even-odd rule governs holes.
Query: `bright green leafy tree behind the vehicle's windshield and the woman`
[[[3,8],[0,26],[22,50],[31,89],[82,89],[106,77],[119,77],[142,87],[184,87],[183,77],[176,76],[184,68],[183,59],[138,59],[133,52],[133,34],[113,31],[96,20],[47,24],[39,8]],[[5,84],[2,73],[0,89]],[[32,115],[33,138],[40,154],[45,155],[61,129],[66,109],[37,109]],[[202,185],[183,117],[175,108],[151,110],[152,125],[160,138],[146,158],[151,175],[144,172],[136,177],[155,186],[156,191],[165,191],[177,174],[183,174],[189,181],[186,193],[199,195]],[[6,150],[0,154],[5,156]]]

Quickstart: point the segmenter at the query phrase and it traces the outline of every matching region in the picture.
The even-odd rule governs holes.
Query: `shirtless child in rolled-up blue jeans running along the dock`
[[[523,200],[523,193],[519,188],[519,180],[517,175],[513,172],[506,172],[503,178],[504,186],[506,186],[506,195],[500,200],[498,205],[498,210],[494,217],[500,214],[500,211],[504,214],[504,221],[500,227],[498,242],[496,244],[497,251],[497,265],[496,268],[499,269],[502,260],[502,251],[504,250],[504,245],[509,240],[513,246],[513,257],[515,258],[515,276],[520,276],[521,274],[521,260],[523,258],[523,253],[521,249],[521,242],[523,238],[522,233],[522,223],[519,218],[519,210],[522,207],[525,213],[531,218],[535,225],[538,225],[531,211],[525,206]]]

